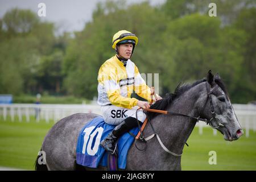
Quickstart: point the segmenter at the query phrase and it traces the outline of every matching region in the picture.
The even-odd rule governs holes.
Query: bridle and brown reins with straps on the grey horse
[[[157,109],[143,109],[143,110],[144,110],[144,111],[150,111],[150,112],[156,112],[156,113],[162,113],[162,114],[172,114],[172,115],[179,115],[179,116],[183,116],[183,117],[193,118],[193,119],[196,119],[197,122],[203,121],[203,122],[207,123],[207,125],[208,125],[208,123],[209,123],[210,127],[212,127],[213,129],[217,129],[218,127],[225,127],[225,126],[221,123],[221,119],[219,119],[219,118],[216,117],[216,113],[215,113],[214,106],[213,106],[213,102],[212,102],[212,94],[213,94],[213,92],[214,92],[216,89],[218,89],[219,86],[216,84],[216,85],[213,87],[213,89],[210,90],[210,84],[209,84],[207,81],[205,81],[205,83],[206,83],[205,86],[206,86],[206,89],[207,89],[207,100],[205,101],[204,108],[205,108],[205,105],[207,105],[207,102],[208,102],[208,100],[209,100],[209,102],[210,102],[210,112],[212,113],[212,118],[210,118],[210,119],[200,118],[200,116],[199,116],[199,117],[193,117],[193,116],[191,116],[191,115],[180,114],[180,113],[174,113],[174,112],[172,112],[172,111],[166,111],[166,110],[157,110]],[[151,96],[152,96],[152,93],[151,93]],[[152,101],[151,101],[151,103],[152,103]],[[139,109],[141,109],[141,108],[139,108]],[[138,109],[138,110],[139,110],[139,109]],[[138,111],[138,110],[137,110],[137,111]],[[137,118],[137,111],[136,111],[136,118]],[[146,114],[147,114],[147,113],[146,113]],[[147,117],[147,118],[148,118],[148,117]],[[138,121],[138,119],[137,119],[137,121]],[[136,139],[139,139],[139,140],[141,140],[141,141],[143,141],[143,142],[147,142],[147,140],[150,140],[150,139],[152,139],[152,138],[154,138],[154,137],[156,136],[156,138],[158,139],[158,142],[160,143],[160,145],[162,146],[162,148],[163,148],[166,152],[168,152],[169,154],[174,155],[174,156],[181,156],[182,152],[181,152],[181,154],[175,154],[174,152],[171,152],[170,150],[168,150],[168,149],[166,148],[166,146],[164,146],[163,142],[161,141],[159,135],[155,132],[154,127],[152,126],[152,124],[151,124],[151,122],[150,122],[149,119],[148,119],[148,122],[150,123],[150,126],[152,127],[152,131],[154,132],[154,134],[150,135],[150,137],[144,138],[144,137],[143,137],[143,134],[142,134],[141,126],[139,125],[139,122],[138,122],[138,126],[139,126],[139,130],[140,130],[140,131],[139,131],[139,133],[138,133],[138,135],[137,135],[137,136],[139,136],[139,137],[138,137],[138,138],[136,137]],[[144,124],[144,123],[143,123],[143,124]],[[144,127],[143,127],[143,128],[144,128]],[[186,144],[187,144],[187,143],[186,143]],[[135,146],[136,146],[136,143],[135,143]],[[137,147],[137,146],[136,146],[136,147]],[[138,150],[141,150],[141,149],[139,149],[138,147],[137,147],[137,149],[138,149]],[[144,148],[144,149],[145,149],[145,148]],[[143,149],[143,150],[144,150],[144,149]]]

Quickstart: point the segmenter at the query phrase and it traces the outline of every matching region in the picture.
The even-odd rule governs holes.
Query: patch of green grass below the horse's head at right
[[[256,170],[256,133],[250,131],[238,140],[228,142],[219,132],[204,128],[203,135],[195,127],[181,157],[182,170]],[[210,151],[216,151],[217,164],[209,164]]]

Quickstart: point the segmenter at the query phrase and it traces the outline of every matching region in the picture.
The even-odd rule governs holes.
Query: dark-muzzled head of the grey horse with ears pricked
[[[201,114],[208,119],[210,126],[224,135],[225,140],[237,140],[243,134],[243,130],[218,73],[214,76],[209,71],[205,85],[207,102]]]

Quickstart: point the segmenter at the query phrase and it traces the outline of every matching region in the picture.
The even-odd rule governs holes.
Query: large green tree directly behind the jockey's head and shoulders
[[[147,2],[131,6],[125,6],[123,2],[112,5],[110,1],[98,5],[93,22],[87,23],[68,46],[64,58],[64,85],[68,93],[87,98],[97,96],[98,69],[105,60],[114,56],[112,36],[118,30],[129,30],[139,36],[139,46],[135,48],[132,60],[142,73],[154,73],[151,65],[155,65],[158,57],[151,50],[160,43],[156,35],[164,28],[163,14]]]

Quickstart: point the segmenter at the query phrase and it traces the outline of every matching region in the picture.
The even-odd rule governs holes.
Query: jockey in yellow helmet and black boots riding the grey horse
[[[138,107],[149,108],[151,90],[141,77],[138,68],[130,60],[138,38],[129,31],[121,30],[113,36],[112,48],[116,55],[106,60],[98,72],[98,104],[101,114],[109,125],[117,125],[114,130],[101,141],[106,151],[114,154],[117,139],[127,131],[144,122],[146,114]],[[131,93],[137,93],[146,101],[131,98]],[[156,94],[154,101],[162,99]]]

